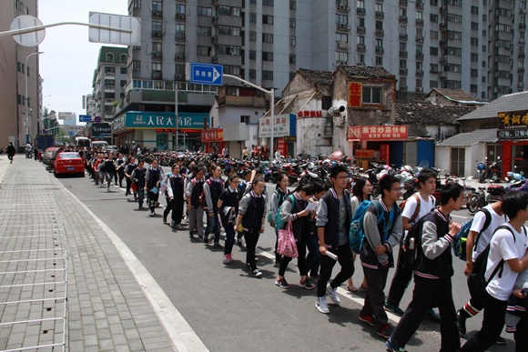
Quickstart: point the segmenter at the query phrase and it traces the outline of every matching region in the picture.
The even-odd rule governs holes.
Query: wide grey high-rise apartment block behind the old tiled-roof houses
[[[186,83],[191,62],[277,96],[298,67],[382,66],[400,98],[439,87],[491,100],[526,77],[525,0],[129,0],[128,14],[142,19],[142,45],[128,48],[117,112],[174,111],[176,87],[183,109],[210,106],[218,89]]]

